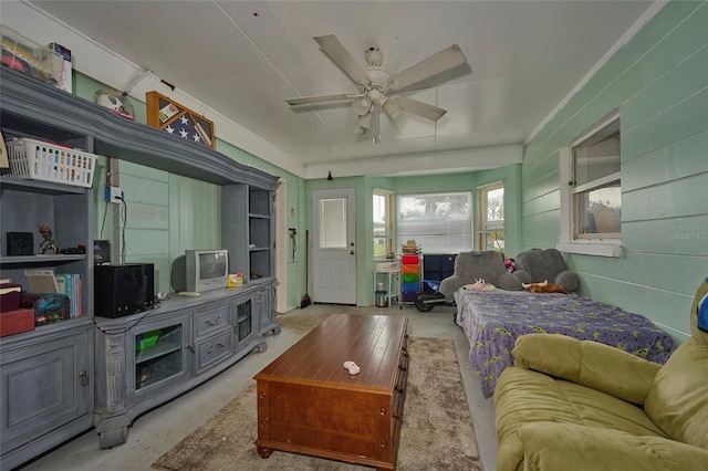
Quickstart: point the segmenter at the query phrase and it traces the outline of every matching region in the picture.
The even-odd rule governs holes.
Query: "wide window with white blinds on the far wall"
[[[415,240],[424,252],[472,250],[471,192],[398,196],[397,244]]]

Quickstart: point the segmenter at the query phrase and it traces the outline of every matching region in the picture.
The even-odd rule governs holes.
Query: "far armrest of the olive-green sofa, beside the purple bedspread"
[[[644,405],[662,365],[610,345],[561,334],[528,334],[517,338],[514,365]]]

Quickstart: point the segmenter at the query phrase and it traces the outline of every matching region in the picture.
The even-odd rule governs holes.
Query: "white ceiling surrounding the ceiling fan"
[[[525,143],[653,1],[31,3],[303,165],[355,167],[373,157],[445,158]],[[352,135],[356,116],[346,103],[316,109],[285,103],[356,93],[312,39],[325,34],[335,34],[362,66],[372,45],[395,73],[459,43],[469,67],[406,93],[447,109],[437,124],[406,113],[391,123],[382,114],[381,142],[373,144]]]

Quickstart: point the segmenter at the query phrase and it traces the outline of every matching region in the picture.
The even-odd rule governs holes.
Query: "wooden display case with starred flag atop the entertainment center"
[[[180,139],[214,148],[214,123],[157,92],[147,92],[147,124]]]

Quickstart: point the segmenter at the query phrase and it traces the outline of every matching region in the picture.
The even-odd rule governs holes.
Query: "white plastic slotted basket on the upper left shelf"
[[[10,176],[91,188],[96,156],[35,139],[7,143]]]

